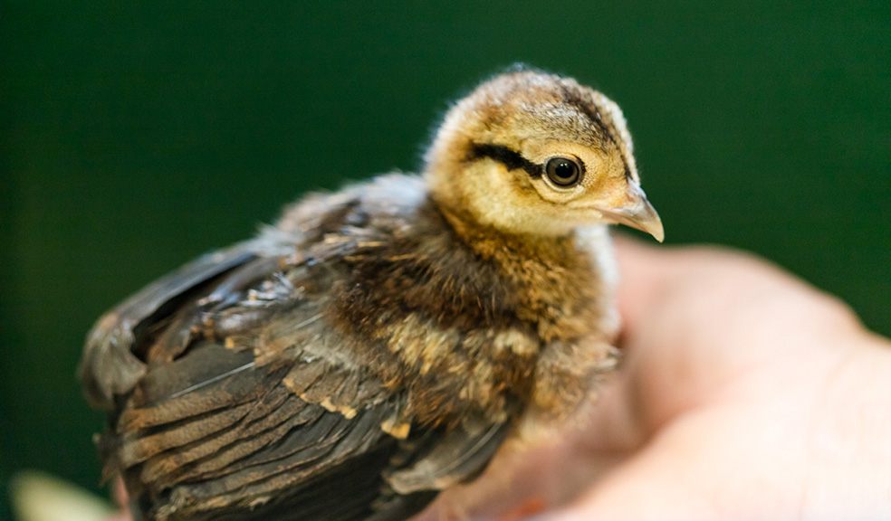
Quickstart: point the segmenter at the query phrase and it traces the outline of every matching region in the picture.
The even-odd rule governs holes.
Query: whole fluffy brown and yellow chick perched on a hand
[[[618,106],[508,71],[425,163],[312,194],[100,318],[81,380],[137,519],[406,519],[589,400],[615,360],[606,224],[663,235]]]

